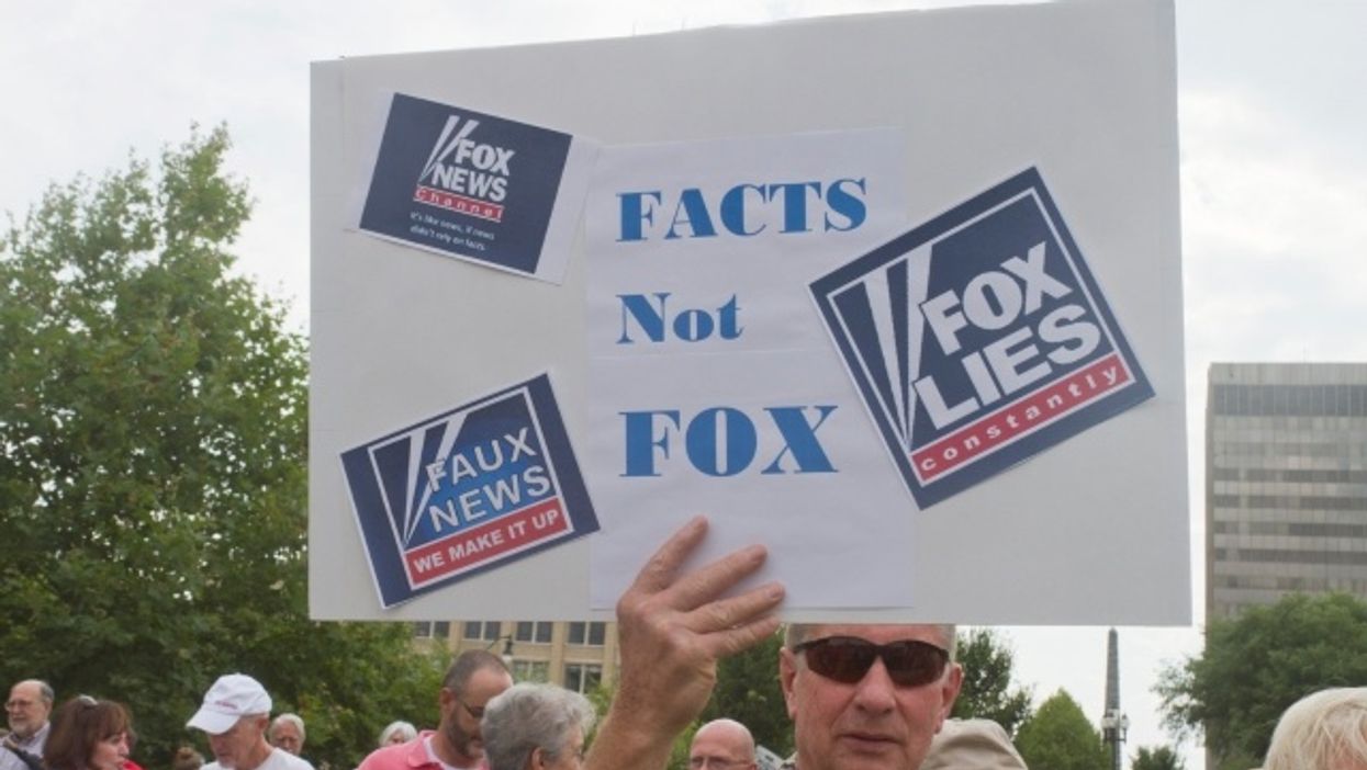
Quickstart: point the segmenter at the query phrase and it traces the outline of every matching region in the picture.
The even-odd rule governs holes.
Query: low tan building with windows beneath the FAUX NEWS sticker
[[[617,624],[603,621],[418,621],[413,635],[452,654],[503,655],[517,681],[550,681],[578,692],[617,679]]]

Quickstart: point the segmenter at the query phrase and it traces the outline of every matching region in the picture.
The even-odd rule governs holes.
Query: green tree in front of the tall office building
[[[1177,735],[1203,732],[1221,767],[1254,767],[1288,706],[1363,681],[1367,603],[1346,594],[1293,594],[1211,621],[1204,651],[1166,669],[1155,689]]]

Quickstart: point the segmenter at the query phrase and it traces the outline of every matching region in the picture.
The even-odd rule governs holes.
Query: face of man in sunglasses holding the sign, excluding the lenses
[[[817,625],[807,640],[854,636],[875,644],[913,639],[943,647],[935,625]],[[930,684],[899,687],[876,658],[853,684],[811,670],[805,654],[781,651],[779,679],[802,770],[916,770],[958,695],[957,664]]]

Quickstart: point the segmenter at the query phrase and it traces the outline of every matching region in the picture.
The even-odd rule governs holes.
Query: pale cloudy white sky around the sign
[[[1102,1],[1102,0],[1094,0]],[[578,40],[915,0],[0,0],[0,210],[49,182],[156,157],[226,122],[256,214],[242,269],[308,318],[309,61]],[[1213,360],[1367,360],[1367,3],[1177,0],[1193,603],[1203,612],[1200,446]],[[1197,623],[1200,623],[1197,617]],[[1098,721],[1106,628],[1012,628],[1036,702],[1066,688]],[[1151,692],[1189,629],[1122,628],[1126,755],[1170,743]],[[1188,769],[1203,759],[1185,745]]]

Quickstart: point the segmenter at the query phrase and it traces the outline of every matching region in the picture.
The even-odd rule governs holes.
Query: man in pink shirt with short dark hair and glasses
[[[487,650],[466,650],[446,670],[436,730],[372,751],[357,770],[472,770],[484,762],[480,719],[498,694],[513,687],[507,665]]]

